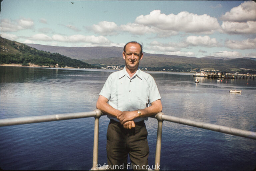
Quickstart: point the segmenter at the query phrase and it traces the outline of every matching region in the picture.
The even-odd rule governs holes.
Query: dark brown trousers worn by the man
[[[126,167],[128,154],[132,165],[140,166],[140,168],[148,165],[147,135],[144,121],[135,123],[135,128],[126,129],[119,122],[110,120],[107,130],[108,165],[124,165],[124,170],[129,169]]]

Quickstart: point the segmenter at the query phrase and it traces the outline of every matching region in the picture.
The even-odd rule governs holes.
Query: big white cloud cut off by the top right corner
[[[256,21],[256,3],[254,1],[245,1],[226,12],[221,16],[221,20],[230,22]]]

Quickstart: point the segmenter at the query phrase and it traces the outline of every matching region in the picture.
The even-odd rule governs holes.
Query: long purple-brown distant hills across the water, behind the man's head
[[[124,65],[122,47],[59,47],[40,44],[27,45],[51,53],[60,53],[70,58],[79,59],[97,66]],[[215,56],[197,58],[144,52],[144,58],[141,60],[140,66],[151,68],[152,70],[169,69],[175,71],[190,71],[200,68],[204,70],[219,70],[226,72],[247,72],[249,70],[256,70],[256,60],[255,58],[231,59]]]

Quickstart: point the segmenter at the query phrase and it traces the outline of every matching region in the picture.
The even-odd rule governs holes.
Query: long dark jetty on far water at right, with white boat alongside
[[[196,72],[194,77],[208,77],[208,78],[233,78],[233,79],[256,79],[256,74],[238,74],[238,73],[209,73],[209,72]]]

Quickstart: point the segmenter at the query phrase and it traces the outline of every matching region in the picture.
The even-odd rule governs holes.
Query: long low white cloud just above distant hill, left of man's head
[[[59,42],[84,42],[84,43],[95,43],[95,44],[109,44],[110,41],[103,36],[84,36],[84,35],[72,35],[72,36],[62,36],[53,35],[52,39]]]

